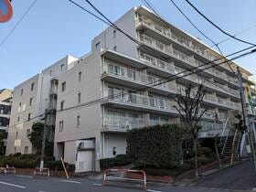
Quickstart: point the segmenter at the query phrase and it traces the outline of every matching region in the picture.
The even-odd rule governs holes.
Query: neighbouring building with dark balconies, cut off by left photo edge
[[[0,90],[0,130],[7,129],[10,121],[12,91]]]

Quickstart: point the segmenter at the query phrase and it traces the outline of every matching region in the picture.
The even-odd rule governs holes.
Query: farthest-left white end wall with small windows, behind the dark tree
[[[31,91],[32,83],[34,83],[33,91]],[[26,146],[28,147],[27,153],[32,153],[32,146],[27,139],[27,130],[31,131],[33,122],[39,119],[33,118],[39,114],[40,85],[41,75],[37,74],[14,89],[6,155],[24,153]],[[23,94],[21,94],[22,90]],[[30,98],[33,98],[31,106],[29,105]],[[28,113],[30,113],[31,121],[28,121]]]

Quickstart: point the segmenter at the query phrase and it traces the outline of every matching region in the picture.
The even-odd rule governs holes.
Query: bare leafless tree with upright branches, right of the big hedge
[[[197,124],[207,110],[201,110],[200,108],[200,103],[203,101],[205,96],[203,85],[199,85],[195,95],[193,95],[193,93],[192,86],[189,85],[184,93],[182,92],[181,94],[177,94],[176,103],[178,106],[175,106],[175,108],[185,124],[186,133],[188,133],[193,139],[195,175],[198,176],[197,137],[201,126],[198,126]]]

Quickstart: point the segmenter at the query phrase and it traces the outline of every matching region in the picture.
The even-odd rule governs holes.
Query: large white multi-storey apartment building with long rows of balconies
[[[54,77],[46,75],[52,68],[59,68],[55,64],[35,80],[15,88],[11,124],[21,116],[19,103],[25,102],[18,96],[19,91],[35,81],[40,85],[35,95],[38,102],[35,113],[46,108],[56,112],[52,123],[57,159],[63,156],[66,162],[76,165],[77,172],[98,171],[101,158],[125,154],[128,130],[180,123],[174,107],[176,94],[184,94],[188,85],[196,93],[198,85],[203,84],[206,96],[201,108],[208,111],[200,122],[203,129],[199,136],[225,134],[224,128],[233,125],[230,120],[241,109],[236,75],[225,63],[183,77],[187,69],[208,62],[214,65],[224,60],[213,62],[222,56],[144,6],[134,7],[115,24],[139,43],[112,27],[106,28],[91,41],[91,52],[80,59],[71,59],[62,72]],[[238,64],[230,62],[230,65],[236,71]],[[247,82],[252,74],[243,68],[241,72]],[[163,82],[170,76],[176,80]],[[28,110],[24,112],[27,118]],[[16,142],[20,135],[17,130],[26,133],[24,128],[16,126],[10,134],[9,154],[25,152],[27,145]]]

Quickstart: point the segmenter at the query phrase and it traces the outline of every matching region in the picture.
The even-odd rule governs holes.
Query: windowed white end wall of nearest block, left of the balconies
[[[81,80],[79,81],[80,72]],[[65,91],[61,91],[61,84],[63,82],[66,82]],[[100,130],[102,127],[101,104],[95,103],[86,107],[69,108],[78,106],[80,103],[101,98],[101,91],[101,56],[99,52],[95,52],[95,54],[88,56],[86,59],[80,60],[72,69],[67,70],[59,76],[55,132],[55,155],[57,157],[59,156],[57,154],[57,145],[64,142],[64,160],[75,164],[75,141],[91,138],[94,138],[96,142],[96,154],[100,154]],[[78,93],[81,95],[80,103],[78,102]],[[63,111],[60,110],[61,101],[65,101]],[[78,115],[80,115],[79,126],[77,125]],[[59,122],[61,121],[64,124],[62,132],[59,130]]]

